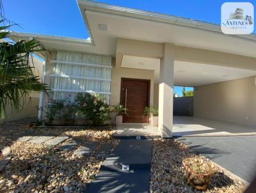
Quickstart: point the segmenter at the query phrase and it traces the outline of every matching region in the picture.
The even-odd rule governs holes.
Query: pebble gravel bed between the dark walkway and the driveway
[[[150,192],[200,192],[188,185],[182,160],[196,157],[193,150],[173,139],[155,139],[152,147]],[[205,192],[244,192],[246,185],[215,166]]]

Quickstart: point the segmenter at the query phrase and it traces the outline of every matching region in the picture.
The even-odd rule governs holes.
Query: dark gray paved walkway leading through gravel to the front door
[[[86,192],[148,192],[152,140],[122,139]]]

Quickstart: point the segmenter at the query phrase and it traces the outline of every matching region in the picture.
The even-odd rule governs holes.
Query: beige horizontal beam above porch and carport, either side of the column
[[[117,67],[120,67],[124,55],[163,58],[164,43],[118,38],[116,41]],[[178,45],[174,45],[174,60],[256,70],[256,58]]]

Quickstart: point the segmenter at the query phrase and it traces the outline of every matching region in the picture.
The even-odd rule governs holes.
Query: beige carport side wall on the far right
[[[195,89],[194,116],[256,126],[256,77]]]

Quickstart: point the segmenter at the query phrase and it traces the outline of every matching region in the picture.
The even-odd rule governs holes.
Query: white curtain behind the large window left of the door
[[[100,66],[86,66],[86,64]],[[70,97],[74,100],[77,93],[92,91],[102,93],[109,102],[111,68],[104,66],[111,66],[111,56],[56,52],[51,62],[50,88],[54,89],[52,98]]]

